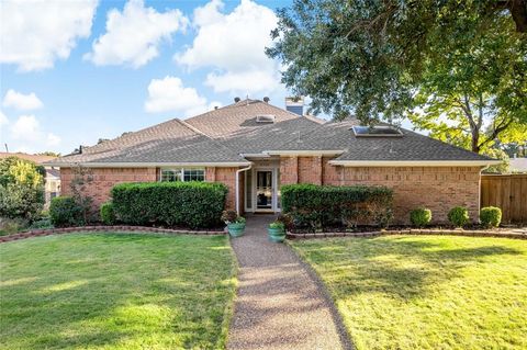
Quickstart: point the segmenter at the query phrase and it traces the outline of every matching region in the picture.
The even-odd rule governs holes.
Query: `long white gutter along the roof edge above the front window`
[[[87,167],[87,168],[162,168],[162,167],[243,167],[250,165],[249,161],[201,161],[201,162],[43,162],[46,167],[70,168],[70,167]]]

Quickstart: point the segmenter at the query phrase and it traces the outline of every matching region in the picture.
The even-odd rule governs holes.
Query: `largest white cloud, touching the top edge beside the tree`
[[[270,32],[277,26],[274,12],[250,0],[242,0],[233,12],[221,12],[223,2],[212,0],[194,10],[198,34],[183,53],[175,55],[189,69],[213,67],[205,84],[215,92],[271,92],[280,86],[279,65],[265,54]]]

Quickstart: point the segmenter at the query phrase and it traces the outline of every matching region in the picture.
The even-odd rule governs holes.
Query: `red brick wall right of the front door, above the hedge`
[[[480,200],[479,167],[335,167],[330,158],[283,157],[281,183],[334,185],[386,185],[394,191],[394,223],[408,223],[408,213],[418,206],[431,210],[435,223],[447,222],[456,205],[469,208],[478,219]],[[293,172],[298,169],[298,176]],[[322,179],[322,180],[321,180]]]

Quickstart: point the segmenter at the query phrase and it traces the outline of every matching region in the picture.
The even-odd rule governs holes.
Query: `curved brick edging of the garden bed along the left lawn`
[[[221,230],[186,230],[186,229],[170,229],[145,226],[80,226],[80,227],[64,227],[64,228],[47,228],[33,229],[20,234],[0,236],[0,244],[19,240],[31,237],[41,237],[49,235],[71,234],[71,233],[101,233],[101,232],[130,232],[130,233],[155,233],[168,235],[197,235],[197,236],[217,236],[225,235]]]

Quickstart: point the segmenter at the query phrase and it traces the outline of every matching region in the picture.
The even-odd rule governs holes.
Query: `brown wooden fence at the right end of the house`
[[[482,174],[480,204],[501,207],[503,223],[527,223],[527,174]]]

